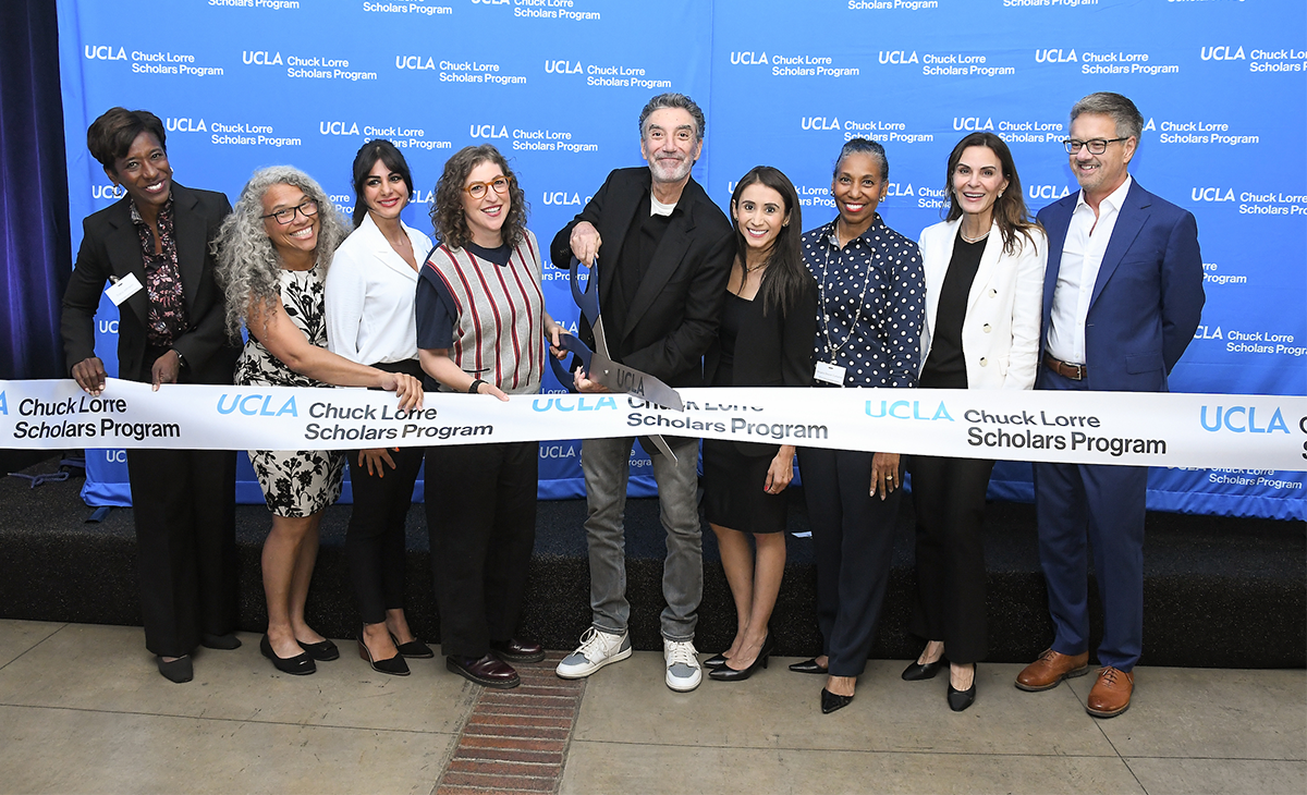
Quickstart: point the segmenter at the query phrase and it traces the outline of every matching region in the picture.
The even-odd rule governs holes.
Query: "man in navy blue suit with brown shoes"
[[[1120,94],[1072,107],[1065,141],[1080,192],[1039,212],[1048,233],[1043,366],[1036,390],[1165,392],[1202,313],[1193,214],[1145,191],[1128,171],[1144,118]],[[1144,646],[1146,467],[1035,464],[1039,560],[1052,646],[1017,676],[1047,690],[1089,672],[1089,550],[1103,603],[1098,681],[1085,709],[1129,709]]]

